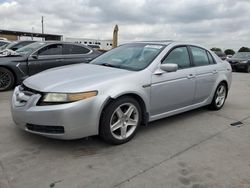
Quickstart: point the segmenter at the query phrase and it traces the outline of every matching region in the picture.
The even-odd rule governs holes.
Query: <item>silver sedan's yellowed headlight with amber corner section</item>
[[[46,93],[42,103],[68,103],[75,102],[97,95],[97,91],[88,91],[83,93]]]

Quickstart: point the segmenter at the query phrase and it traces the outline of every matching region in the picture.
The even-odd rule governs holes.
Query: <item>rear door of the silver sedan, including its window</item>
[[[211,54],[200,47],[190,46],[193,64],[196,67],[196,91],[194,103],[206,100],[218,76],[217,65]]]

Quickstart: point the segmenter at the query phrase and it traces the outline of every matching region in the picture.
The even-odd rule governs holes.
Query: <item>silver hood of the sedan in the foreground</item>
[[[41,92],[82,92],[130,73],[133,71],[94,64],[69,65],[31,76],[24,80],[24,85]]]

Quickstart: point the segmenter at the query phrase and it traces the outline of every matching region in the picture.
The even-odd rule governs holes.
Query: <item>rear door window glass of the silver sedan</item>
[[[198,47],[191,47],[191,51],[195,66],[209,65],[209,60],[206,50],[203,50]]]

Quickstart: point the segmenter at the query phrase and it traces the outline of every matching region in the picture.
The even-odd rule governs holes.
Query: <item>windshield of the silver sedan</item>
[[[158,44],[125,44],[97,57],[91,63],[139,71],[145,69],[164,47]]]

